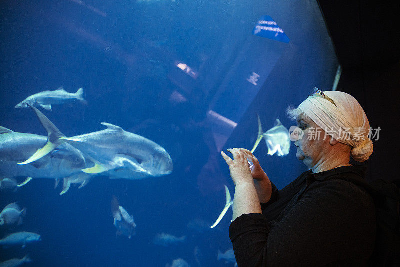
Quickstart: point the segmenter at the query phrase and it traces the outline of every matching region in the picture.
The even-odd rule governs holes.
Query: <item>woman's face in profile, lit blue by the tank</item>
[[[306,115],[297,117],[297,127],[304,135],[294,142],[297,147],[296,157],[312,168],[318,161],[323,160],[323,151],[326,145],[329,145],[330,136],[325,137],[325,131]]]

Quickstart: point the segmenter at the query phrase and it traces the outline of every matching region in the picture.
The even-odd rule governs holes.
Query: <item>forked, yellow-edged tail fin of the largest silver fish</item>
[[[33,110],[37,118],[40,120],[41,125],[43,125],[43,127],[46,129],[48,138],[47,138],[47,143],[46,145],[44,145],[43,148],[37,150],[26,161],[18,163],[19,165],[29,164],[33,161],[36,161],[37,159],[42,158],[46,154],[53,151],[56,146],[62,143],[62,141],[59,140],[60,137],[65,137],[65,135],[62,132],[60,132],[60,130],[42,112],[40,112],[39,109],[37,109],[34,106],[31,106],[30,104],[28,104],[28,106],[30,107],[30,109]]]

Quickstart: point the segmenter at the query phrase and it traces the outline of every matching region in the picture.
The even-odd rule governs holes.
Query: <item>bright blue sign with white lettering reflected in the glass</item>
[[[270,16],[261,16],[253,28],[253,35],[289,43],[290,39]]]

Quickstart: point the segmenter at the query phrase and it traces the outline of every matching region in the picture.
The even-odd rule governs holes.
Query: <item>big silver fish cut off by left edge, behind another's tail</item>
[[[18,164],[43,147],[46,141],[47,137],[43,135],[14,132],[0,126],[0,177],[56,179],[80,173],[81,169],[86,167],[82,152],[68,143],[54,147],[46,156],[34,162]],[[25,182],[17,184],[17,187],[23,186],[29,180],[27,178]],[[11,182],[3,180],[1,183]],[[12,184],[14,183],[12,182]]]

